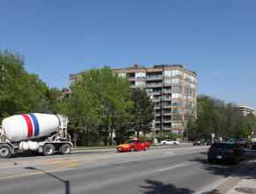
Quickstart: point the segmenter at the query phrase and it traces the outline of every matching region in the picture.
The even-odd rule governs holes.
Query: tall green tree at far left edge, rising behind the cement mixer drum
[[[24,56],[0,50],[0,120],[16,114],[41,112],[39,79],[24,69]]]

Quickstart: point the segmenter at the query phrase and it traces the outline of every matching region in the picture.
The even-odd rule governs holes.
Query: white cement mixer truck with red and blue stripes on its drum
[[[0,130],[0,158],[17,152],[58,152],[69,154],[72,139],[67,132],[68,117],[49,114],[26,114],[4,118]]]

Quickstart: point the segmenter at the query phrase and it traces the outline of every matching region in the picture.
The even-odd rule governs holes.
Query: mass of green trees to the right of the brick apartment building
[[[211,98],[198,96],[198,116],[196,121],[189,121],[187,134],[191,140],[195,138],[211,138],[215,133],[217,138],[248,138],[256,131],[254,115],[239,115],[235,104]]]

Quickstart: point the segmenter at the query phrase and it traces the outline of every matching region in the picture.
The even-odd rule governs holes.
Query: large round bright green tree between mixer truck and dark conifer
[[[94,132],[105,145],[111,144],[113,132],[124,127],[127,109],[132,107],[130,88],[128,78],[120,78],[109,66],[83,71],[61,109],[73,129]]]

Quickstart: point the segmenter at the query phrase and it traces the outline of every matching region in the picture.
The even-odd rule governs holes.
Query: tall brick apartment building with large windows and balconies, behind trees
[[[181,64],[113,69],[128,76],[132,87],[144,88],[154,101],[154,131],[173,131],[184,138],[187,122],[197,116],[197,74]]]

